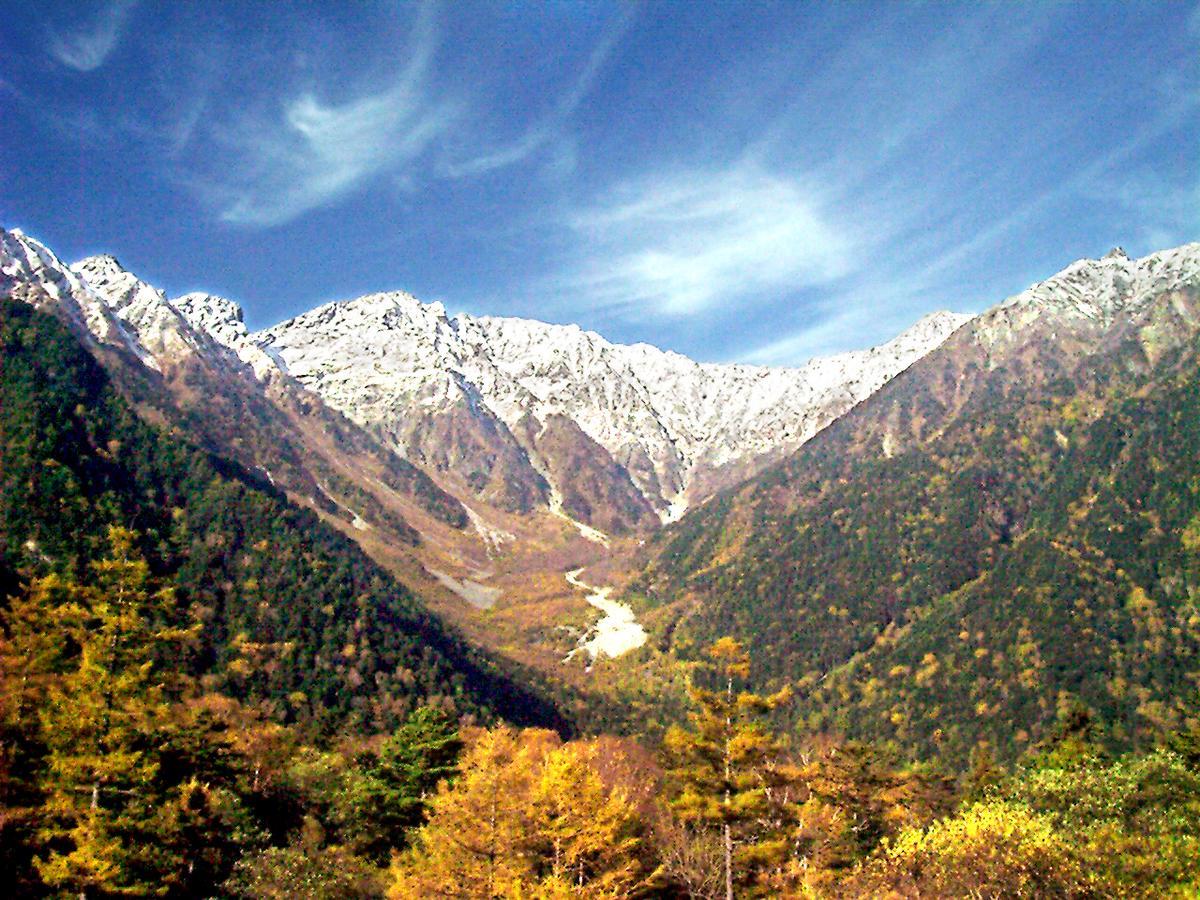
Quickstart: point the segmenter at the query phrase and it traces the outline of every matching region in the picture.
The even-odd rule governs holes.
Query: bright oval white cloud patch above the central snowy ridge
[[[799,179],[756,166],[625,185],[571,216],[586,258],[560,288],[626,316],[686,316],[845,275],[853,241]]]

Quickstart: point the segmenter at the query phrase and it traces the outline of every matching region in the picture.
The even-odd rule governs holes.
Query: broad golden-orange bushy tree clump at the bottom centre
[[[391,868],[389,898],[619,898],[648,872],[641,820],[589,743],[484,732]]]

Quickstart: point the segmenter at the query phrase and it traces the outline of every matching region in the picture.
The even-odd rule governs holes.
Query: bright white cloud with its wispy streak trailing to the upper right
[[[1014,25],[996,7],[955,13],[918,58],[895,54],[864,26],[820,71],[803,72],[738,163],[636,178],[569,217],[576,257],[556,293],[575,314],[599,306],[626,322],[803,302],[812,326],[751,350],[770,362],[802,361],[844,329],[908,324],[907,310],[924,311],[926,280],[908,284],[913,258],[884,263],[881,251],[908,234],[925,242],[948,198],[932,181],[904,182],[889,163],[1028,54],[1055,18],[1039,11]],[[752,107],[772,77],[742,73],[727,101],[745,106],[748,94]],[[814,121],[812,110],[833,108],[838,116]],[[866,269],[888,271],[875,282]],[[898,293],[889,281],[907,287]],[[886,290],[853,293],[853,284]]]

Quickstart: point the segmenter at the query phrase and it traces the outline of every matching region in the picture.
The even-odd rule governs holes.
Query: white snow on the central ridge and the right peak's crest
[[[1195,244],[1144,259],[1120,250],[1081,259],[984,313],[973,340],[1020,340],[1025,324],[1046,317],[1103,330],[1127,305],[1198,270]],[[518,445],[511,469],[544,481],[546,490],[533,492],[544,503],[564,491],[572,470],[539,458],[529,419],[534,434],[569,420],[608,455],[608,469],[628,474],[671,520],[796,450],[968,318],[934,313],[880,347],[797,368],[698,364],[647,344],[612,344],[574,325],[448,317],[439,304],[408,294],[330,304],[252,340],[349,418],[421,458],[430,457],[414,438],[427,438],[449,409],[486,420],[496,433],[499,424]]]

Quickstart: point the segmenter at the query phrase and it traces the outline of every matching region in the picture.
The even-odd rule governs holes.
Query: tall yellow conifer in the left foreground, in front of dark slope
[[[31,602],[53,601],[59,587],[66,596],[25,611],[29,623],[58,625],[58,638],[78,648],[48,680],[40,714],[48,853],[36,866],[48,886],[80,898],[161,888],[162,872],[180,864],[163,858],[155,827],[163,811],[158,752],[180,685],[156,660],[190,631],[164,624],[173,595],[151,586],[132,533],[113,528],[109,544],[110,556],[94,564],[95,584],[35,584]],[[36,647],[28,635],[19,642]],[[31,673],[55,674],[46,667],[46,656],[30,658]]]

